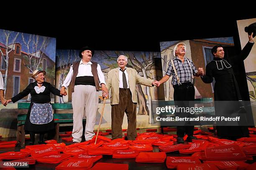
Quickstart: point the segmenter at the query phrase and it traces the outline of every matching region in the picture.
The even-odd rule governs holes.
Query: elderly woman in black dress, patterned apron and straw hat
[[[43,140],[44,133],[54,129],[50,94],[53,93],[62,97],[60,90],[54,88],[49,82],[45,82],[45,75],[45,71],[35,70],[32,78],[36,81],[30,83],[23,92],[20,92],[7,101],[7,103],[14,103],[29,93],[31,94],[31,104],[28,109],[24,128],[30,134],[29,145],[34,145],[35,133],[40,133],[38,144],[46,144]]]

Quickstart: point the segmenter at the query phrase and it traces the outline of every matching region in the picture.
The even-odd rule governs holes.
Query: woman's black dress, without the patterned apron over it
[[[51,102],[50,94],[60,95],[60,90],[53,87],[49,82],[43,82],[42,86],[45,86],[44,92],[40,92],[39,94],[36,93],[36,90],[34,89],[35,86],[38,86],[36,82],[32,82],[26,87],[25,90],[20,92],[18,95],[15,95],[11,100],[14,102],[17,102],[18,100],[22,99],[23,97],[26,97],[29,93],[31,94],[31,103],[28,109],[28,114],[25,121],[25,130],[30,132],[45,132],[49,130],[54,129],[54,121],[52,120],[49,123],[46,124],[33,124],[30,122],[30,112],[31,108],[33,106],[33,103],[49,103]]]

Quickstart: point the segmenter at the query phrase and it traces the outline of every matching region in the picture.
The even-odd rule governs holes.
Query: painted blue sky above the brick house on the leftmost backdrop
[[[9,37],[9,44],[12,44],[13,43],[13,39],[15,38],[17,32],[13,32],[12,34],[10,34],[10,37]],[[29,39],[29,35],[30,34],[27,34],[27,33],[23,33],[24,35],[24,39],[26,42],[28,42],[28,39]],[[42,44],[42,40],[43,40],[43,36],[39,36],[39,47],[41,47],[41,44]],[[3,44],[6,45],[6,37],[5,37],[5,33],[3,30],[0,29],[0,42],[2,42]],[[23,40],[22,40],[22,36],[21,36],[21,33],[19,33],[17,39],[15,42],[19,42],[21,44],[21,51],[24,51],[24,52],[28,52],[27,50],[27,47],[24,45],[23,43]],[[30,44],[32,45],[32,40],[30,42]],[[32,46],[30,47],[30,49],[32,49]],[[39,50],[39,49],[38,49]],[[32,51],[32,50],[31,50]],[[30,51],[30,52],[31,52]],[[56,52],[56,38],[52,38],[50,37],[49,38],[49,44],[48,46],[46,47],[46,50],[45,50],[45,53],[48,57],[51,58],[51,60],[53,60],[55,62],[55,52]]]

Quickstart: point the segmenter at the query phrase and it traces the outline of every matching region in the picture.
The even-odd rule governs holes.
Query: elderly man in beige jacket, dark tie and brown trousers
[[[124,113],[128,119],[127,138],[135,140],[136,133],[136,105],[137,92],[136,83],[152,87],[158,81],[146,79],[138,75],[133,68],[126,67],[128,59],[125,55],[118,57],[118,68],[110,70],[106,80],[106,87],[111,88],[111,129],[112,139],[122,138],[122,124]],[[108,94],[103,92],[103,97]]]

